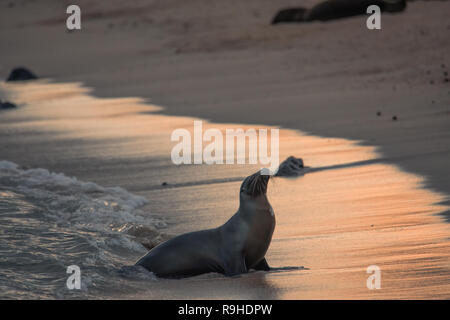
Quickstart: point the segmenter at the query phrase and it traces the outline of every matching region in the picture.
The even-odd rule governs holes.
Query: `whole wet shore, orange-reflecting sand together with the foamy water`
[[[448,196],[375,147],[285,129],[280,160],[302,157],[312,170],[269,183],[277,226],[266,257],[276,269],[158,279],[134,262],[173,235],[224,223],[259,167],[174,165],[171,133],[198,119],[155,114],[138,98],[45,80],[0,90],[19,105],[0,113],[1,298],[450,297],[450,228],[439,215]],[[66,286],[70,265],[80,290]],[[381,290],[366,287],[370,265]]]

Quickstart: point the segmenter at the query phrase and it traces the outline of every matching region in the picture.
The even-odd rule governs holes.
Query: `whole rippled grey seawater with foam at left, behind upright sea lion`
[[[119,187],[0,161],[1,298],[102,297],[126,290],[121,277],[151,279],[123,268],[164,226],[139,210],[146,202]],[[70,265],[83,270],[79,291],[66,287]]]

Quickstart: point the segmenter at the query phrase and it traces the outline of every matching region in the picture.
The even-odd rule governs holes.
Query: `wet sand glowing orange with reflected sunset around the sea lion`
[[[20,105],[0,116],[0,133],[6,136],[1,146],[15,146],[5,148],[2,159],[60,169],[145,196],[149,200],[146,210],[168,222],[164,232],[169,234],[222,224],[237,208],[240,179],[260,167],[173,165],[171,133],[177,128],[192,131],[194,119],[157,114],[160,107],[138,98],[98,99],[79,84],[45,81],[2,84],[1,89]],[[267,128],[203,123],[205,130],[222,132]],[[42,140],[51,143],[40,144]],[[17,146],[26,146],[28,151],[18,151]],[[322,170],[295,179],[275,178],[270,183],[277,227],[267,260],[274,267],[306,269],[257,272],[237,279],[200,276],[151,281],[137,283],[137,293],[98,295],[450,297],[450,230],[439,216],[448,210],[439,205],[446,200],[444,195],[424,189],[420,177],[385,163],[374,147],[356,141],[281,129],[280,161],[290,155]],[[73,165],[74,159],[79,166]],[[380,290],[366,287],[370,265],[381,269]]]

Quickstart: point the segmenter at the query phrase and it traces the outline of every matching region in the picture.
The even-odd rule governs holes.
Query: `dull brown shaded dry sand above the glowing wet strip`
[[[80,5],[90,10],[91,3]],[[361,29],[361,18],[273,27],[264,22],[274,6],[267,3],[248,21],[221,25],[212,21],[223,7],[211,9],[207,21],[194,22],[191,11],[172,17],[186,9],[174,5],[150,5],[123,19],[89,18],[79,33],[42,22],[54,18],[59,5],[18,5],[8,9],[2,26],[9,28],[2,33],[21,40],[5,48],[0,74],[6,77],[13,66],[25,65],[59,82],[83,81],[97,97],[142,97],[164,106],[161,114],[264,123],[362,141],[378,146],[386,161],[426,177],[427,188],[450,195],[450,85],[442,75],[450,66],[445,57],[450,41],[440,31],[448,27],[444,12],[449,3],[410,3],[405,13],[383,17],[380,33]],[[197,5],[201,2],[192,10]],[[246,6],[252,12],[255,3]],[[111,3],[112,8],[121,5]],[[39,14],[30,17],[33,10]],[[158,21],[170,23],[149,22],[154,10]],[[13,19],[34,22],[20,27],[9,23]],[[210,29],[201,31],[205,23]],[[185,29],[177,33],[179,28]],[[332,38],[335,28],[340,37]],[[34,37],[42,32],[52,40],[37,53]],[[151,41],[144,41],[148,37]],[[449,221],[450,212],[445,216]]]

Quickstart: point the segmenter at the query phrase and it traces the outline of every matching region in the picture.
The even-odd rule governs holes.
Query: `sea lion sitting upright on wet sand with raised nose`
[[[163,278],[270,270],[264,257],[275,229],[275,215],[267,199],[269,178],[257,172],[244,179],[239,209],[222,226],[172,238],[151,249],[136,265]]]

